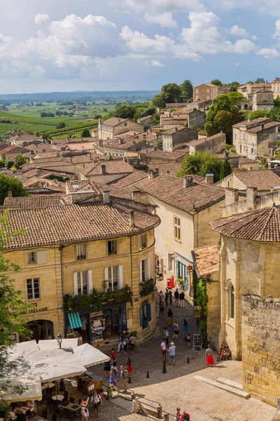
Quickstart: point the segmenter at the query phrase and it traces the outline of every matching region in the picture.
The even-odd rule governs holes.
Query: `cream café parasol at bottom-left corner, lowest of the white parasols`
[[[20,377],[9,377],[7,379],[12,385],[23,386],[27,387],[27,390],[22,394],[13,393],[9,386],[7,386],[7,390],[3,391],[1,387],[1,398],[5,399],[5,401],[41,401],[42,399],[42,388],[41,388],[41,377],[39,375],[24,375]],[[1,381],[1,384],[7,385],[7,381]]]

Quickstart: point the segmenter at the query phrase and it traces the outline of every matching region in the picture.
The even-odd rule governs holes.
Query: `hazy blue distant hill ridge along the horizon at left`
[[[0,94],[1,101],[8,102],[62,102],[66,100],[82,101],[149,101],[160,91],[74,91]]]

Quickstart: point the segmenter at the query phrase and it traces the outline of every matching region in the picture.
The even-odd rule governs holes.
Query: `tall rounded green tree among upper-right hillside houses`
[[[242,120],[239,108],[243,98],[239,92],[229,92],[219,95],[213,100],[204,125],[209,136],[216,135],[221,131],[228,136],[232,134],[233,124]]]

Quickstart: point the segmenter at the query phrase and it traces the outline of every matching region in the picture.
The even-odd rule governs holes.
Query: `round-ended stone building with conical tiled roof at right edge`
[[[219,248],[220,333],[241,359],[241,296],[280,296],[280,207],[251,210],[211,221],[221,234]]]

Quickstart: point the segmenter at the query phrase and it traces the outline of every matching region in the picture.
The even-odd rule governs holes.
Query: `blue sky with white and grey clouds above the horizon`
[[[279,0],[0,0],[0,10],[0,93],[280,76]]]

